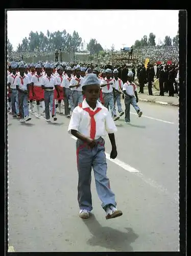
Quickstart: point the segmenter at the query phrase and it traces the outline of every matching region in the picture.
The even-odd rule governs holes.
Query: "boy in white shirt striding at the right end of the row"
[[[124,83],[123,93],[125,94],[125,123],[130,123],[130,104],[136,110],[138,117],[141,117],[142,111],[140,111],[139,106],[137,105],[138,96],[136,85],[133,80],[133,72],[128,73],[127,82]],[[135,99],[136,97],[136,99]]]

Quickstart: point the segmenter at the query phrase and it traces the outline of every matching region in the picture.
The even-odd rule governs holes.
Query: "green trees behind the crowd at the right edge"
[[[136,40],[134,43],[134,47],[135,48],[139,48],[139,47],[147,47],[147,46],[156,46],[156,42],[155,42],[155,35],[153,33],[149,34],[149,38],[147,37],[147,35],[144,35],[140,40]],[[160,41],[159,45],[161,46],[176,46],[178,47],[178,33],[175,37],[173,37],[173,40],[170,36],[166,35],[164,37],[164,41]]]

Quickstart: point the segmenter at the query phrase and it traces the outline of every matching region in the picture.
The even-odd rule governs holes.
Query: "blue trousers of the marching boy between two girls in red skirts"
[[[52,116],[56,115],[54,91],[45,91],[44,90],[44,104],[45,104],[45,118],[46,119],[50,119],[49,104],[51,104]]]

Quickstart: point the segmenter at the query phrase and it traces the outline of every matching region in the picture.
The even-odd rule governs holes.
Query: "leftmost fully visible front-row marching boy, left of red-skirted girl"
[[[15,78],[16,89],[18,90],[20,122],[31,120],[29,116],[29,77],[25,75],[25,65],[19,66],[19,75]]]

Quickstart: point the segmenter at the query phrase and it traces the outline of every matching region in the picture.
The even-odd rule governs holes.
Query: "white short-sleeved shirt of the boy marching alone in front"
[[[82,102],[82,108],[77,106],[71,114],[68,132],[71,133],[71,130],[76,130],[84,136],[90,138],[91,117],[87,111],[83,110],[84,108],[89,108],[92,110],[86,102],[86,99],[84,99]],[[94,120],[96,121],[95,139],[106,136],[107,133],[114,133],[117,131],[115,123],[108,109],[105,108],[105,106],[103,106],[98,100],[96,108],[92,111],[96,111],[97,108],[101,108],[102,110],[94,115]]]

